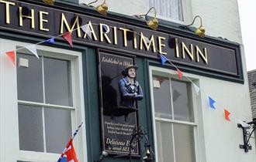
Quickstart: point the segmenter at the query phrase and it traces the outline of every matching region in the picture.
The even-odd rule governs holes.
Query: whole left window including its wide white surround
[[[40,59],[23,48],[31,44],[0,39],[2,53],[16,51],[16,67],[0,66],[1,161],[57,161],[73,131],[85,123],[81,52],[36,45]],[[3,46],[4,45],[4,46]],[[5,76],[5,77],[2,77]],[[3,115],[4,114],[4,115]],[[85,124],[74,139],[87,160]],[[12,152],[12,156],[10,155]]]

